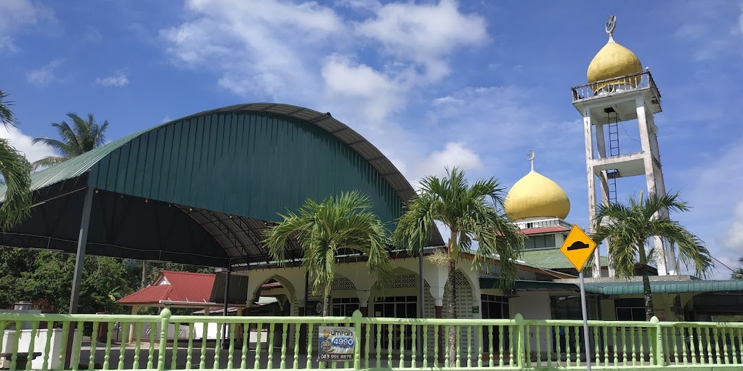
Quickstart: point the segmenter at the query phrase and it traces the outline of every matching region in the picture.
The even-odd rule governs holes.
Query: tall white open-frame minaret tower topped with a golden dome
[[[588,217],[591,223],[597,203],[617,202],[617,180],[643,176],[648,194],[665,194],[658,127],[653,114],[661,112],[661,93],[649,68],[643,70],[635,53],[614,42],[617,18],[609,17],[609,42],[588,65],[588,84],[571,88],[573,105],[583,115],[585,171],[588,174]],[[619,125],[639,128],[640,151],[620,151]],[[608,130],[607,130],[608,129]],[[597,180],[600,201],[597,201]],[[668,217],[664,211],[658,217]],[[605,221],[606,222],[606,221]],[[592,229],[592,227],[589,227]],[[675,275],[676,258],[672,246],[655,239],[658,275]],[[598,249],[597,251],[600,251]],[[609,256],[609,276],[614,275]],[[594,276],[600,275],[600,254],[594,255]]]

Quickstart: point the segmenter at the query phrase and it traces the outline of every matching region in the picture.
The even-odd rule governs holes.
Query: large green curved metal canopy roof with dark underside
[[[415,195],[392,162],[330,114],[270,103],[166,122],[32,180],[37,206],[30,220],[0,234],[1,244],[71,251],[80,190],[92,187],[99,192],[88,237],[92,254],[222,266],[224,260],[270,263],[262,229],[307,198],[362,191],[392,229]],[[431,243],[443,243],[441,236]],[[301,253],[294,242],[288,249]]]

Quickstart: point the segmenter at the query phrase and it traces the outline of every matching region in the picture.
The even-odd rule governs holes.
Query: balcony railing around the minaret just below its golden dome
[[[631,73],[625,76],[574,86],[573,88],[570,88],[570,92],[573,97],[573,102],[575,103],[603,96],[613,96],[629,91],[640,91],[643,89],[647,89],[652,93],[652,99],[654,99],[656,103],[661,102],[661,92],[658,91],[658,87],[655,86],[649,68],[638,73]]]

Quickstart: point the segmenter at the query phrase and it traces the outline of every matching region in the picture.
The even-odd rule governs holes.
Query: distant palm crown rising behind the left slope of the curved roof
[[[68,113],[67,116],[72,120],[72,125],[65,121],[51,124],[56,128],[61,140],[47,137],[33,139],[34,144],[42,142],[59,153],[59,156],[45,157],[33,162],[33,168],[56,165],[91,151],[106,142],[108,120],[99,125],[93,114],[88,114],[88,119],[82,119],[73,113]]]

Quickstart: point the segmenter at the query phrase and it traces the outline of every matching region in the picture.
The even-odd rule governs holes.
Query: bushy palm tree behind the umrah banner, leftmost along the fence
[[[387,230],[371,211],[371,200],[358,191],[343,192],[317,203],[308,199],[298,213],[279,216],[284,220],[266,231],[263,241],[279,265],[285,262],[286,240],[296,237],[302,246],[302,269],[311,278],[314,292],[322,294],[322,315],[330,311],[331,283],[335,278],[336,257],[341,253],[366,255],[366,266],[385,286],[395,266],[387,250]]]

